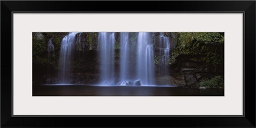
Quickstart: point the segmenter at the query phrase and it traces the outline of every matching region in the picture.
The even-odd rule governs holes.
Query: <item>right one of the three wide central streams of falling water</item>
[[[154,84],[154,50],[149,33],[138,35],[136,72],[141,84]]]

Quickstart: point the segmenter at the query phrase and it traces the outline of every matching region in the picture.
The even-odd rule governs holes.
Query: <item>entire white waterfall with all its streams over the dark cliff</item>
[[[154,85],[155,84],[155,56],[159,66],[159,72],[168,73],[170,58],[170,39],[160,33],[153,36],[152,33],[120,33],[120,54],[115,54],[116,33],[100,32],[98,37],[99,56],[99,83],[102,85]],[[172,41],[172,40],[171,40]],[[60,47],[60,83],[72,83],[72,61],[74,50],[83,49],[84,43],[81,33],[69,33],[61,41]],[[77,46],[77,47],[76,47]],[[48,52],[54,51],[52,41],[49,40]],[[156,55],[155,53],[156,52]],[[120,58],[119,63],[115,56]],[[79,59],[80,59],[79,52]],[[119,65],[118,65],[119,64]],[[158,70],[157,70],[158,71]],[[158,73],[157,72],[157,75]]]

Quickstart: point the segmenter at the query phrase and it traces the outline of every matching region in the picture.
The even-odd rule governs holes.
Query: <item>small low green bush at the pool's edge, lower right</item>
[[[221,76],[215,76],[212,79],[206,79],[199,83],[199,86],[205,86],[207,88],[223,88],[224,79]]]

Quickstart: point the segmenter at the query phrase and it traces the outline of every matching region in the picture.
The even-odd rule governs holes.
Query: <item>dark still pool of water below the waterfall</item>
[[[33,85],[33,96],[224,96],[224,90],[152,85],[41,84]]]

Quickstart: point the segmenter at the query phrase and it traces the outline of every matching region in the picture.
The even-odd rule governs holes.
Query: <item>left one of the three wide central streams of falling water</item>
[[[115,83],[115,33],[99,33],[100,84]]]

